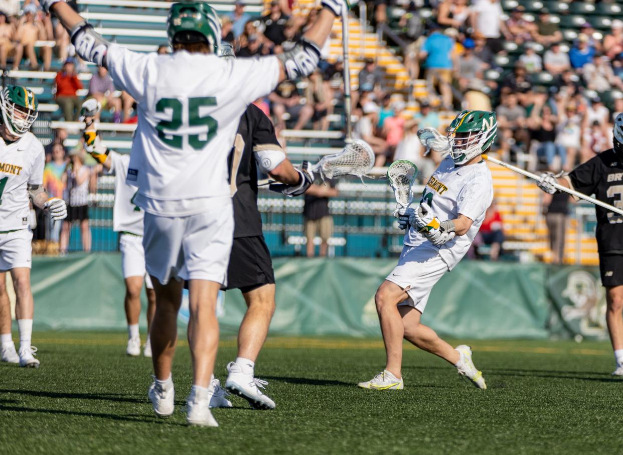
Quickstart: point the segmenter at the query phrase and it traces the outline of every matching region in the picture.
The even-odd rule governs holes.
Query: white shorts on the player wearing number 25
[[[225,206],[183,217],[145,213],[143,247],[147,272],[170,279],[227,282],[234,239],[231,199]]]

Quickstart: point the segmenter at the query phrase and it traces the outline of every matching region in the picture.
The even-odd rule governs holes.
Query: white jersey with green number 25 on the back
[[[247,105],[277,86],[275,56],[140,54],[108,47],[116,87],[138,103],[127,181],[148,213],[188,216],[231,204],[227,155]]]

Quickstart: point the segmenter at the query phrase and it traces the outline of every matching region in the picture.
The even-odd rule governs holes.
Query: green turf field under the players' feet
[[[235,357],[224,340],[217,375]],[[4,454],[508,454],[622,451],[623,381],[607,343],[473,342],[488,383],[408,348],[403,391],[354,383],[383,366],[380,340],[271,338],[257,375],[275,411],[232,396],[220,428],[189,428],[189,353],[179,349],[176,413],[158,419],[146,397],[151,361],[125,356],[123,333],[38,332],[39,370],[0,365]]]

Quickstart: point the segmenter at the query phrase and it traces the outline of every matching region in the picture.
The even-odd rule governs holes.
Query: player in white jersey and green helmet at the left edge
[[[43,189],[45,153],[29,132],[39,103],[26,87],[7,85],[0,92],[0,338],[2,362],[39,367],[31,346],[34,302],[31,291],[32,231],[28,222],[30,201],[47,216],[60,221],[67,216],[65,201],[48,198]],[[6,290],[11,274],[16,294],[19,354],[11,338],[11,307]]]

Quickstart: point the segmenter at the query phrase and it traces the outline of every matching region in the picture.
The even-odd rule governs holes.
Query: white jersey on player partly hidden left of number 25
[[[145,212],[134,203],[136,186],[125,183],[130,165],[130,155],[121,155],[116,151],[108,153],[110,171],[115,176],[115,206],[113,206],[113,230],[130,232],[136,236],[143,235],[143,218]]]

